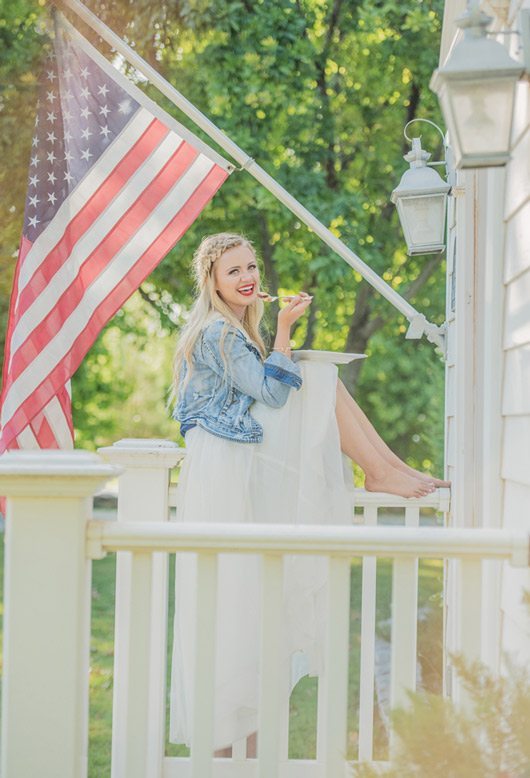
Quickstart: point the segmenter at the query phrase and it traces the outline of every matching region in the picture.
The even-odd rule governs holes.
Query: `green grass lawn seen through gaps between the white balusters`
[[[3,533],[0,542],[0,585],[3,592]],[[169,624],[167,666],[168,678],[171,661],[173,622],[174,565],[170,563]],[[109,554],[93,564],[92,575],[92,637],[90,646],[90,733],[89,778],[106,778],[110,775],[112,677],[114,641],[114,577],[116,557]],[[350,673],[349,673],[349,753],[356,757],[357,707],[359,702],[360,613],[361,613],[361,560],[352,562]],[[431,691],[439,691],[441,685],[441,607],[442,563],[436,560],[420,562],[419,606],[430,605],[428,618],[422,622],[418,635],[418,655],[423,678]],[[390,560],[379,560],[377,565],[377,624],[378,633],[388,633],[386,620],[390,617],[392,590],[392,566]],[[2,608],[3,613],[3,608]],[[1,657],[0,657],[1,659]],[[317,679],[303,678],[291,697],[289,755],[293,759],[314,758],[316,751]],[[376,713],[375,756],[385,758],[386,735],[382,721]],[[167,743],[169,756],[188,753],[184,746]]]

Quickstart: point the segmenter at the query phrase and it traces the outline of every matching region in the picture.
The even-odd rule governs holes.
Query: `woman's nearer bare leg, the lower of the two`
[[[401,497],[422,497],[434,491],[433,483],[403,473],[382,456],[352,412],[342,391],[337,391],[335,414],[341,449],[364,470],[367,491],[390,492]]]

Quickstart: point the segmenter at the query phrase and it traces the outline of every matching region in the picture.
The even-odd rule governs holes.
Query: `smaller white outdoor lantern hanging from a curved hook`
[[[403,173],[391,195],[405,233],[408,254],[435,254],[445,248],[445,211],[450,185],[427,166],[428,151],[419,138],[404,159],[410,169]]]

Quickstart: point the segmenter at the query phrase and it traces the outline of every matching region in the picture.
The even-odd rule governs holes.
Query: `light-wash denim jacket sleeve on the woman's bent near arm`
[[[220,336],[223,323],[218,321],[203,331],[201,352],[206,364],[240,392],[273,408],[287,402],[291,387],[302,385],[300,368],[278,351],[261,361],[257,348],[235,327],[230,326],[223,343],[228,369],[221,356]]]

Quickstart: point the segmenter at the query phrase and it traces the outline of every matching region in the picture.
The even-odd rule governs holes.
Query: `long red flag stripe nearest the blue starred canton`
[[[69,222],[68,227],[56,246],[33,273],[30,281],[20,294],[17,316],[26,309],[49,284],[57,270],[68,260],[72,248],[93,222],[101,216],[114,197],[123,188],[129,178],[141,167],[154,149],[161,143],[169,130],[158,119],[154,119],[138,138],[134,146],[127,151],[116,164],[112,173],[89,197],[81,210]]]

